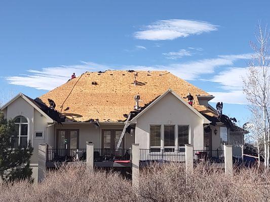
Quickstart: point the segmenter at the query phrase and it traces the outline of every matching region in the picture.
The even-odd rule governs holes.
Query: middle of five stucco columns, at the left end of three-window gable
[[[132,144],[132,186],[139,187],[139,177],[140,177],[140,149],[139,144]]]

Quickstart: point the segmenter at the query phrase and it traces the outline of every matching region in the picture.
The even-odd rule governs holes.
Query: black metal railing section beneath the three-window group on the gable
[[[185,162],[185,150],[175,150],[174,148],[151,148],[140,149],[141,162]]]

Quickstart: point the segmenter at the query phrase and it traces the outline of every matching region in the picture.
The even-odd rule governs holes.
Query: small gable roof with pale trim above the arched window
[[[2,108],[0,108],[0,111],[3,111],[6,109],[11,103],[13,103],[16,99],[19,97],[22,97],[28,104],[30,104],[34,109],[36,109],[38,112],[40,112],[43,116],[47,118],[48,123],[53,123],[55,120],[54,113],[51,112],[51,109],[47,106],[37,103],[35,100],[31,99],[30,97],[24,95],[23,93],[17,94],[15,97],[13,97],[7,104],[5,104]],[[46,113],[47,112],[47,113]],[[59,117],[59,116],[58,116]],[[56,121],[56,120],[55,120]]]

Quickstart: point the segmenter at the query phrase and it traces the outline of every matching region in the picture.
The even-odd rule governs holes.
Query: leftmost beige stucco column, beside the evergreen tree
[[[46,143],[38,144],[37,182],[41,182],[44,179],[46,173],[47,148],[48,144]]]

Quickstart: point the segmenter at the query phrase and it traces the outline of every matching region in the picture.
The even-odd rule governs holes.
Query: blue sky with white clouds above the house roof
[[[1,1],[0,85],[37,97],[72,72],[162,69],[242,123],[242,79],[269,1]],[[3,95],[2,95],[3,97]],[[213,105],[215,105],[213,103]]]

